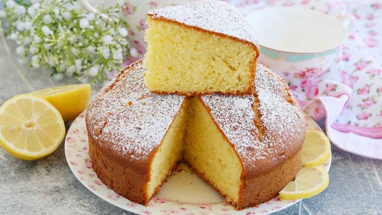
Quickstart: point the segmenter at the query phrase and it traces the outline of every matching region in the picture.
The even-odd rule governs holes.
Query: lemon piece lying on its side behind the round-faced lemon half
[[[66,85],[32,92],[49,101],[59,110],[65,122],[74,120],[88,106],[91,94],[90,84]]]

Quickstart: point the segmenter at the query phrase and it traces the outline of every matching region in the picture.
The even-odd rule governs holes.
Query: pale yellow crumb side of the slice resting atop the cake
[[[147,21],[144,80],[151,91],[248,92],[257,57],[254,47],[176,22]]]

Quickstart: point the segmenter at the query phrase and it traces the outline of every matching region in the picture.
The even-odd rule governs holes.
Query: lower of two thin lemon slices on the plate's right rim
[[[328,187],[329,174],[322,167],[304,167],[298,171],[294,181],[282,191],[281,199],[304,199],[318,195]]]

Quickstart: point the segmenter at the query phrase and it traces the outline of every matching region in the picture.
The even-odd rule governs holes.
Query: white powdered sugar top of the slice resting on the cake
[[[257,44],[248,21],[236,8],[223,1],[205,0],[156,9],[147,14],[153,19],[169,19]]]

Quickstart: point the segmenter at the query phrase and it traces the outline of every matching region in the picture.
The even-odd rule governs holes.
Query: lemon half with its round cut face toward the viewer
[[[45,99],[18,95],[0,107],[0,146],[17,158],[45,157],[57,149],[64,136],[60,113]]]

